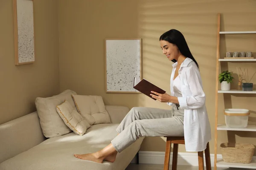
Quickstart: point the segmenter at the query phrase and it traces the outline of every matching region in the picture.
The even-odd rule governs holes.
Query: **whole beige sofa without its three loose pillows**
[[[111,123],[92,125],[82,136],[72,131],[46,138],[37,111],[0,125],[0,170],[125,170],[140,149],[143,137],[118,153],[113,163],[99,164],[73,156],[96,152],[117,135],[116,127],[129,109],[111,105],[105,109]]]

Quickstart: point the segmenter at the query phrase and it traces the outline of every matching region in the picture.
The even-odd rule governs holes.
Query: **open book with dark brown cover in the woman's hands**
[[[137,91],[140,91],[141,93],[147,95],[151,99],[154,99],[152,96],[150,96],[150,94],[152,94],[151,91],[155,91],[155,92],[160,93],[160,94],[165,94],[166,93],[166,91],[157,87],[156,85],[152,84],[151,82],[148,82],[145,79],[140,80],[140,82],[138,82],[136,84],[135,83],[135,77],[134,77],[134,89],[136,89]],[[156,94],[154,94],[154,95],[156,95]],[[157,100],[157,99],[154,99],[154,100]]]

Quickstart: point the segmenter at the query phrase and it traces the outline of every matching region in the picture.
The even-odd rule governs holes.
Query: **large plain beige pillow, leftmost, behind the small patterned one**
[[[61,94],[55,96],[46,98],[37,97],[35,99],[35,106],[45,137],[51,138],[72,132],[72,130],[62,121],[56,110],[56,106],[60,105],[64,100],[67,100],[73,108],[76,108],[71,96],[72,94],[76,94],[76,92],[65,90]]]

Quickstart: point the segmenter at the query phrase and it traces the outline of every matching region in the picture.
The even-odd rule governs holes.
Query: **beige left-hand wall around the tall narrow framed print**
[[[12,0],[0,0],[0,124],[35,111],[37,96],[59,93],[57,1],[34,7],[35,63],[15,66]]]

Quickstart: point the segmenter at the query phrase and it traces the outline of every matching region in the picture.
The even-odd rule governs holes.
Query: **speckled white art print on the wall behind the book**
[[[107,91],[137,92],[140,79],[140,40],[106,40]]]

